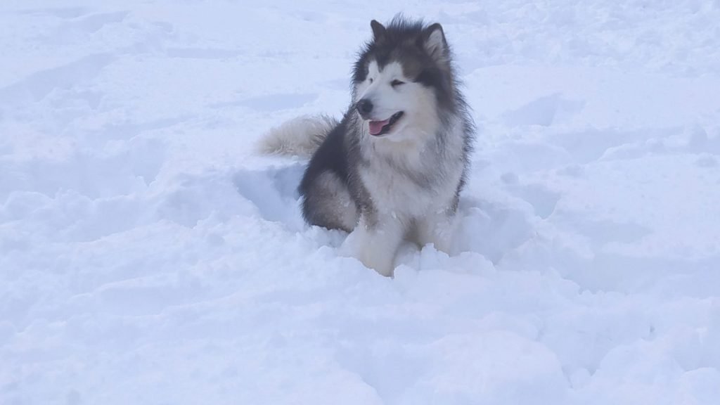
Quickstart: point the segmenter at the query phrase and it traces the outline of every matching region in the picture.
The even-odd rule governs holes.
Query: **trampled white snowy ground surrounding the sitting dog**
[[[0,404],[718,404],[720,1],[3,0]],[[307,228],[264,130],[441,22],[463,252]]]

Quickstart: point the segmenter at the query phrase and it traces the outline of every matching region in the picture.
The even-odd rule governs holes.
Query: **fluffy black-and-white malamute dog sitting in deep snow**
[[[342,120],[290,120],[261,150],[310,156],[298,187],[305,221],[347,231],[348,253],[392,276],[404,240],[451,252],[474,123],[440,24],[396,16],[370,27]]]

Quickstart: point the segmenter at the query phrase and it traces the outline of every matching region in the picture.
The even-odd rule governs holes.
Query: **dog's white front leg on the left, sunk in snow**
[[[395,253],[402,243],[405,229],[396,218],[367,221],[364,216],[345,241],[346,249],[362,264],[385,277],[395,270]]]

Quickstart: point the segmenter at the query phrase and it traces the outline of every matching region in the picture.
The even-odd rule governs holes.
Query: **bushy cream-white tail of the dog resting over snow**
[[[304,115],[271,128],[260,140],[261,153],[310,157],[338,125],[327,115]]]

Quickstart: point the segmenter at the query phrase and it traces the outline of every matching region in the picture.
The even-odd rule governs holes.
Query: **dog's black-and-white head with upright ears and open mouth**
[[[439,24],[396,17],[372,20],[373,39],[354,68],[356,113],[372,138],[405,141],[434,135],[454,108],[450,50]]]

